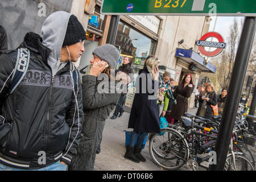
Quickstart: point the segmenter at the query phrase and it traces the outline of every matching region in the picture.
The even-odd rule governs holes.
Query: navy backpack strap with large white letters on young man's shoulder
[[[19,48],[13,77],[11,78],[10,94],[14,92],[23,77],[26,75],[29,62],[30,50],[27,48]]]

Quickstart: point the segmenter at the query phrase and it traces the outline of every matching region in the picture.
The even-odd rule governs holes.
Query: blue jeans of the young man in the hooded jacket
[[[40,169],[20,169],[20,168],[5,166],[0,163],[0,171],[67,171],[67,169],[68,169],[68,165],[61,164],[60,161]]]

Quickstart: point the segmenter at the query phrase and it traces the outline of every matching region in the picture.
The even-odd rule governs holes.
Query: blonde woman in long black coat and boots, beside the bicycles
[[[136,93],[128,125],[128,128],[132,128],[133,132],[126,148],[125,158],[137,163],[146,161],[141,155],[144,138],[150,132],[160,133],[156,101],[159,89],[159,62],[155,57],[146,60],[146,65],[139,71],[136,81]]]

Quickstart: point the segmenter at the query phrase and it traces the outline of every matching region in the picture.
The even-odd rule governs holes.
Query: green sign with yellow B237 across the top
[[[104,0],[105,15],[256,16],[255,0]]]

